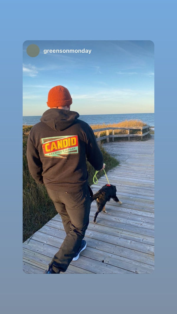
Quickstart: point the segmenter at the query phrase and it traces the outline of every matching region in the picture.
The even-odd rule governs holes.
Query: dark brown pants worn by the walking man
[[[78,252],[89,224],[90,192],[87,185],[79,192],[59,192],[46,188],[66,231],[66,238],[51,263],[54,272],[65,272]]]

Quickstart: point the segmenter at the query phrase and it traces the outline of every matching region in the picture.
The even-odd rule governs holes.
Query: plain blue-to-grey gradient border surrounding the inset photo
[[[3,313],[169,313],[176,307],[176,1],[1,4]],[[22,271],[22,44],[151,40],[155,45],[155,271],[44,276]],[[74,78],[73,78],[74,79]]]

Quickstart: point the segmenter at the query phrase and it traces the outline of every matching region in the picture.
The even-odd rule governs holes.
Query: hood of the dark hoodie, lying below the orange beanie
[[[40,120],[54,130],[63,131],[76,123],[78,117],[76,111],[52,108],[45,111]]]

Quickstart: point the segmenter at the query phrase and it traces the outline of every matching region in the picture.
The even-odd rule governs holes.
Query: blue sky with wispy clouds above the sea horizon
[[[26,48],[36,44],[37,57]],[[89,49],[88,53],[47,53],[44,49]],[[25,41],[23,116],[48,110],[49,89],[63,85],[71,110],[81,115],[154,112],[154,44],[151,41]]]

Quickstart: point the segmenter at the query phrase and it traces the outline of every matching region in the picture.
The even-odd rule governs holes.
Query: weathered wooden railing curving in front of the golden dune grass
[[[143,130],[146,130],[146,132],[143,133]],[[109,134],[109,131],[112,130],[112,134]],[[114,134],[115,130],[127,130],[127,134]],[[140,130],[140,134],[130,134],[130,130]],[[109,143],[109,139],[112,138],[112,142],[114,142],[114,138],[116,137],[128,137],[128,141],[130,140],[130,137],[140,136],[141,139],[143,139],[143,136],[150,134],[150,126],[145,125],[144,127],[104,127],[101,129],[94,129],[94,133],[97,133],[97,142],[100,142],[102,139],[106,139],[106,142]],[[105,136],[100,136],[101,131],[106,131]]]

